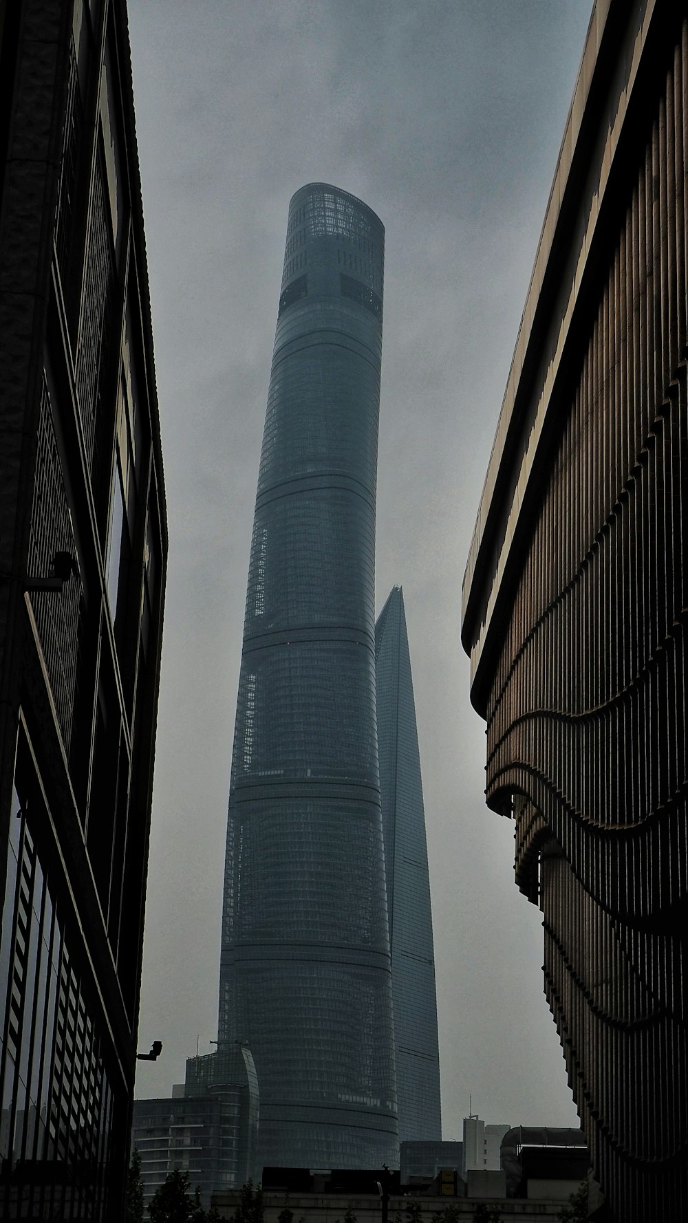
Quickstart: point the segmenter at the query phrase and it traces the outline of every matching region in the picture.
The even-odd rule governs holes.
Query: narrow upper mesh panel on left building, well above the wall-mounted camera
[[[108,334],[113,309],[113,256],[105,203],[103,171],[95,163],[91,224],[86,243],[86,273],[81,302],[81,328],[76,356],[76,391],[83,429],[86,457],[91,470],[97,459],[103,372],[107,364]]]

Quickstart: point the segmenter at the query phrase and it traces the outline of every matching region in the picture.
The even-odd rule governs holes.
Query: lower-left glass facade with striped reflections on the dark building
[[[32,797],[13,789],[2,904],[0,1205],[6,1218],[92,1218],[107,1189],[113,1096],[89,982],[29,830]]]

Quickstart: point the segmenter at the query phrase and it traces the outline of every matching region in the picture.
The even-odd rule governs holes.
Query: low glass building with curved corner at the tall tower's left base
[[[141,1156],[143,1205],[175,1168],[189,1173],[203,1206],[213,1192],[255,1183],[257,1131],[258,1084],[247,1046],[189,1058],[186,1084],[175,1085],[171,1097],[133,1104],[131,1145]]]

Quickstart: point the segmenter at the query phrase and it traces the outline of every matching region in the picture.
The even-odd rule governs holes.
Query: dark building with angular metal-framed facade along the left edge
[[[124,2],[0,5],[0,1217],[120,1219],[166,556]]]

